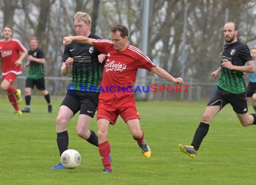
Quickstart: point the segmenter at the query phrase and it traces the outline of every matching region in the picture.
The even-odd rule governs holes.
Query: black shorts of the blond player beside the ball
[[[80,110],[80,115],[88,115],[93,118],[97,110],[99,93],[87,93],[75,91],[66,93],[62,106],[67,106],[74,115]]]

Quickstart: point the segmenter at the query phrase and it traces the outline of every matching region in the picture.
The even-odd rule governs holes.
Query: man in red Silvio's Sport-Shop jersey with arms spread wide
[[[105,169],[103,172],[111,173],[110,144],[107,140],[109,124],[115,124],[118,115],[122,117],[146,158],[150,158],[150,147],[144,141],[144,132],[140,126],[140,115],[137,112],[133,98],[132,86],[135,83],[138,68],[154,72],[161,78],[176,84],[183,84],[182,78],[174,78],[167,71],[155,66],[146,54],[138,48],[128,44],[128,29],[124,25],[115,25],[111,29],[110,40],[95,40],[84,36],[64,37],[63,44],[71,41],[86,43],[95,46],[107,56],[103,70],[101,91],[97,107],[97,126],[99,153]],[[102,59],[99,58],[99,61]],[[116,93],[104,92],[108,87],[115,87]],[[113,91],[110,91],[113,92]]]

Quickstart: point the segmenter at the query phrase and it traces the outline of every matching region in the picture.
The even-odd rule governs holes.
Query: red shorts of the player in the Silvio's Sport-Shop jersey
[[[132,93],[100,93],[97,120],[107,119],[115,124],[118,115],[126,123],[130,119],[141,119]]]

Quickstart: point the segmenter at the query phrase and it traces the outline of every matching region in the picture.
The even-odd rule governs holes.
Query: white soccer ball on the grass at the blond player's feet
[[[62,165],[68,169],[74,169],[81,163],[81,155],[73,149],[65,150],[61,156]]]

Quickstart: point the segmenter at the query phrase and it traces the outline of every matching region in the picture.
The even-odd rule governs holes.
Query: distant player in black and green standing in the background
[[[38,48],[38,38],[32,37],[30,39],[30,50],[28,51],[28,62],[26,62],[25,67],[29,66],[27,78],[26,78],[26,88],[25,88],[25,100],[26,107],[22,112],[30,112],[30,101],[31,101],[31,91],[34,86],[42,91],[44,98],[48,104],[48,112],[52,113],[53,106],[51,104],[49,92],[45,89],[44,82],[44,51]]]

